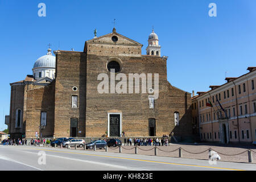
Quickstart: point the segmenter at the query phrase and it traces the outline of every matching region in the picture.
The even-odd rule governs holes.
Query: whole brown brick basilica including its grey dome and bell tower
[[[191,136],[191,93],[167,81],[154,30],[142,46],[113,28],[82,52],[48,48],[10,84],[11,137]]]

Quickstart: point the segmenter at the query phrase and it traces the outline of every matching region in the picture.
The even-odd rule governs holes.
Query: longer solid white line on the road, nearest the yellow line
[[[36,154],[35,152],[28,152],[28,151],[22,151],[22,152],[26,152],[26,153],[30,153],[30,154]],[[37,154],[36,154],[36,155],[37,155]],[[148,170],[148,169],[133,168],[133,167],[125,167],[125,166],[119,166],[119,165],[115,165],[115,164],[108,164],[108,163],[101,163],[101,162],[93,162],[93,161],[90,161],[90,160],[82,160],[82,159],[67,158],[67,157],[57,156],[57,155],[46,154],[46,156],[52,156],[52,157],[55,157],[55,158],[68,159],[68,160],[75,160],[75,161],[85,162],[85,163],[91,163],[91,164],[98,164],[98,165],[103,165],[103,166],[108,166],[108,167],[116,167],[116,168],[123,168],[123,169],[131,169],[131,170],[135,170],[135,171],[150,171],[150,170]]]

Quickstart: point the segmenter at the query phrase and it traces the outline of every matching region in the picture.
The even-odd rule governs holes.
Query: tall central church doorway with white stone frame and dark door
[[[109,113],[109,137],[120,137],[121,134],[121,114]]]

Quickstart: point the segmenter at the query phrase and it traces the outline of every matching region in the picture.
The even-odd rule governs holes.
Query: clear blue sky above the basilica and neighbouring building
[[[46,4],[46,17],[38,4]],[[209,3],[216,3],[217,17],[210,17]],[[207,91],[227,77],[247,73],[256,66],[256,1],[13,1],[0,0],[0,52],[2,77],[0,130],[10,112],[10,82],[32,75],[36,59],[53,50],[83,51],[86,40],[112,32],[142,43],[146,54],[152,26],[168,56],[168,81],[191,92]]]

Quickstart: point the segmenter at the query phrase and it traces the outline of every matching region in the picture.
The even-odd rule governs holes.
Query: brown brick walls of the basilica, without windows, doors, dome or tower
[[[112,36],[117,36],[118,41],[113,42]],[[47,127],[42,131],[43,136],[71,137],[71,119],[77,118],[77,137],[103,137],[109,131],[110,113],[121,114],[121,131],[125,131],[127,137],[148,136],[150,118],[155,119],[156,136],[172,132],[175,136],[191,136],[191,94],[167,81],[167,57],[141,55],[141,47],[142,44],[113,31],[88,40],[83,52],[58,51],[56,79],[47,86],[33,85],[27,92],[24,101],[26,137],[34,137],[35,131],[39,130],[41,111],[47,111]],[[98,75],[106,73],[110,78],[107,64],[112,60],[121,65],[119,73],[127,77],[127,93],[110,93],[110,89],[109,93],[99,93],[97,90],[102,81],[98,80]],[[159,74],[159,97],[155,100],[154,109],[149,107],[148,90],[142,93],[141,79],[140,92],[129,93],[129,73],[144,73],[146,76],[152,73],[152,88],[155,88],[154,74]],[[115,80],[115,85],[118,82]],[[73,90],[74,86],[77,90]],[[12,92],[11,103],[16,104],[16,93]],[[24,93],[22,89],[15,92]],[[76,108],[72,108],[72,96],[78,97]],[[22,106],[23,102],[19,102]],[[12,104],[11,108],[15,109]],[[179,112],[178,126],[174,124],[175,112]]]

